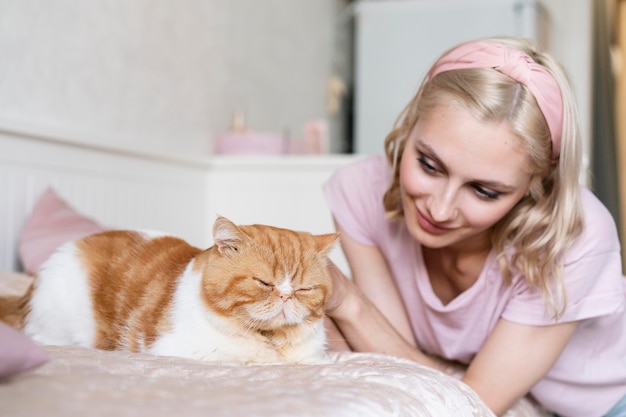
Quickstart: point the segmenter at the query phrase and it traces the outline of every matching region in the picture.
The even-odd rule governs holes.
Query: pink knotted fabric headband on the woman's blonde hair
[[[548,123],[552,136],[552,158],[559,156],[563,99],[559,84],[545,67],[518,49],[499,42],[478,41],[465,43],[441,57],[431,69],[429,78],[464,68],[494,68],[528,87]]]

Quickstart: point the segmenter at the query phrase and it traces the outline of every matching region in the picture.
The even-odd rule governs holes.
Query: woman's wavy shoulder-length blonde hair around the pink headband
[[[563,126],[558,160],[552,159],[552,141],[546,119],[525,85],[492,68],[443,72],[432,79],[424,79],[385,139],[392,182],[383,197],[383,204],[390,219],[403,218],[400,159],[420,115],[454,101],[478,120],[510,123],[528,154],[530,188],[528,194],[495,224],[491,242],[499,255],[506,282],[511,282],[514,270],[519,271],[529,286],[540,289],[546,307],[558,318],[567,305],[560,260],[584,227],[579,189],[582,145],[574,96],[559,64],[548,54],[537,51],[531,42],[513,38],[490,41],[523,50],[536,63],[543,65],[559,84]]]

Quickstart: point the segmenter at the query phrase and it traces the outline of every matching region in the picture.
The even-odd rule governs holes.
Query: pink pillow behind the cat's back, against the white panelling
[[[103,231],[95,221],[81,215],[48,188],[35,204],[19,243],[25,271],[34,275],[63,243]]]

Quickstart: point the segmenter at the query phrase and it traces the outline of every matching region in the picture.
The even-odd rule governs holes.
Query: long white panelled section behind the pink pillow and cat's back
[[[206,165],[0,130],[0,270],[18,270],[17,243],[47,187],[111,228],[161,230],[207,244]]]

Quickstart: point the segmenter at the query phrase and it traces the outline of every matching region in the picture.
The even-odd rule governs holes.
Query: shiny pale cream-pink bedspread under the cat
[[[432,416],[493,414],[467,386],[389,356],[333,354],[328,365],[235,367],[79,347],[0,382],[5,417]],[[539,416],[528,400],[510,416]]]

